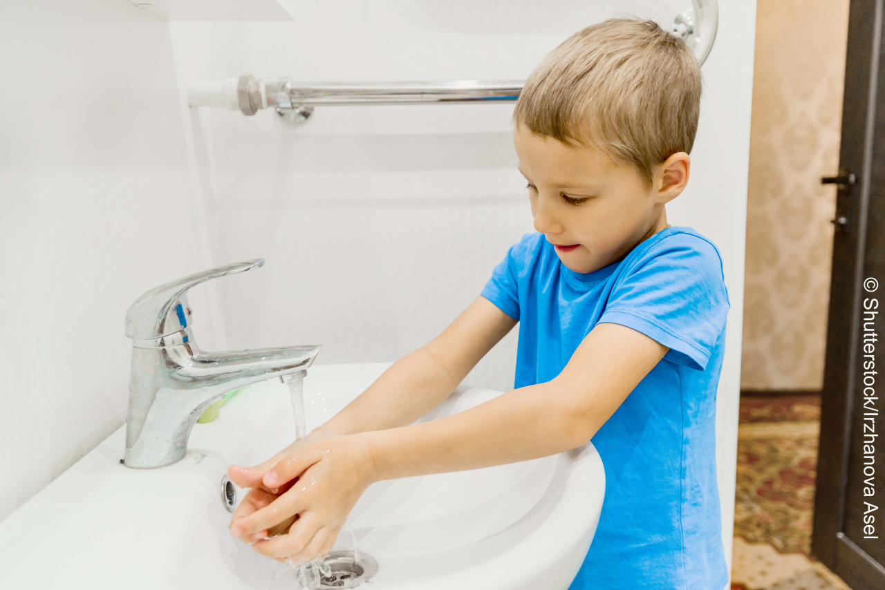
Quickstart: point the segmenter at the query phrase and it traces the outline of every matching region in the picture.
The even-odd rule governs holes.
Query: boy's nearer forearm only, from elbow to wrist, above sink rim
[[[589,416],[556,387],[552,381],[520,387],[446,418],[361,434],[376,479],[478,469],[580,447],[604,418]]]

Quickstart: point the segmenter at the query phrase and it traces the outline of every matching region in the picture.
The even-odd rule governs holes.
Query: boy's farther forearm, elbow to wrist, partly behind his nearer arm
[[[390,365],[366,391],[317,430],[355,434],[408,425],[443,402],[455,387],[455,378],[422,347]]]

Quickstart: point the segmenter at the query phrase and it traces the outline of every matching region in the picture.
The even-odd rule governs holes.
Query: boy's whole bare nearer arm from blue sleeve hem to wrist
[[[375,479],[561,453],[588,442],[667,350],[631,328],[599,324],[555,379],[446,418],[358,437],[372,455]]]

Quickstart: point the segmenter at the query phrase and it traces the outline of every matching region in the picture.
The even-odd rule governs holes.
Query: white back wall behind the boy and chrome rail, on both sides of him
[[[282,3],[281,3],[282,4]],[[182,85],[241,73],[296,80],[524,79],[574,31],[613,14],[661,23],[688,2],[292,1],[296,20],[172,23]],[[543,8],[542,8],[543,6]],[[689,190],[674,225],[720,247],[732,304],[718,466],[731,558],[755,2],[720,5],[704,65]],[[318,107],[302,127],[271,111],[191,110],[215,263],[266,257],[220,281],[219,346],[324,345],[319,363],[395,360],[476,297],[532,231],[512,105]],[[201,333],[198,337],[203,338]],[[512,387],[514,330],[468,376]]]

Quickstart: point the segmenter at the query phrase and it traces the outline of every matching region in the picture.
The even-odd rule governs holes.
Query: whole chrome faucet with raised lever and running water
[[[124,464],[148,468],[180,461],[196,418],[212,402],[256,381],[304,377],[319,346],[227,352],[196,347],[188,289],[264,262],[260,258],[197,272],[150,289],[129,307],[126,335],[133,348]]]

